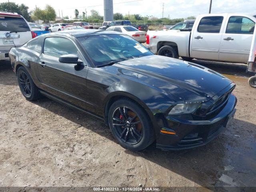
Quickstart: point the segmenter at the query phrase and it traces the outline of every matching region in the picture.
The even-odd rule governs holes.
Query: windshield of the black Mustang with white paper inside
[[[153,55],[147,48],[126,35],[97,35],[78,38],[95,66]]]

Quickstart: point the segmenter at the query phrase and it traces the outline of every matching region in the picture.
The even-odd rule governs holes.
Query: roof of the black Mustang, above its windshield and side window
[[[99,29],[86,29],[86,30],[78,29],[78,30],[64,30],[59,32],[46,33],[40,36],[44,37],[44,36],[58,35],[58,36],[67,36],[67,37],[74,36],[75,38],[78,38],[78,37],[84,37],[84,36],[111,35],[111,34],[123,35],[123,33],[115,32],[115,31],[106,31],[106,30],[99,30]]]

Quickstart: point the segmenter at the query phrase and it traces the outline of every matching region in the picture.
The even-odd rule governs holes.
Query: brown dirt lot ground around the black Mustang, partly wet
[[[0,186],[256,187],[256,89],[246,66],[195,62],[236,82],[233,122],[206,146],[141,152],[89,116],[47,98],[27,101],[10,64],[0,64]]]

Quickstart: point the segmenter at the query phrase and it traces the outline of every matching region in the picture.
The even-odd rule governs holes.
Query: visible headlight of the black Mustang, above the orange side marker
[[[175,105],[169,112],[169,115],[173,114],[190,114],[196,110],[200,103],[184,103]]]

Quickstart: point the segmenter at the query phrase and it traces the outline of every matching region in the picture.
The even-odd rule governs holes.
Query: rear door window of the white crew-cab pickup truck
[[[198,25],[200,33],[219,33],[222,25],[222,16],[203,17]]]

